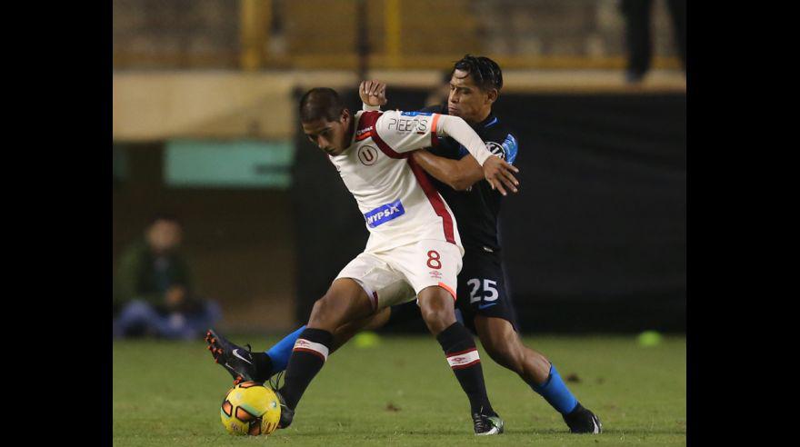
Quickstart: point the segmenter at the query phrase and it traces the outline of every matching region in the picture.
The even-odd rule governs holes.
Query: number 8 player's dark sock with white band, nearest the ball
[[[325,365],[333,339],[332,333],[310,328],[305,328],[297,338],[286,365],[284,386],[280,390],[286,405],[292,410],[300,402],[316,373]]]

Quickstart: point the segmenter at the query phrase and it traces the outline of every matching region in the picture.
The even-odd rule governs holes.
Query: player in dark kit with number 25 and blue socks
[[[494,154],[514,164],[517,141],[514,134],[492,111],[503,87],[500,67],[487,57],[465,55],[455,63],[447,104],[423,109],[422,113],[452,114],[470,124]],[[359,94],[366,105],[386,103],[385,84],[365,81]],[[497,190],[487,182],[480,164],[451,138],[435,141],[426,151],[412,153],[414,160],[433,176],[436,189],[455,214],[465,247],[464,266],[458,274],[456,306],[466,327],[480,338],[486,353],[505,368],[517,373],[535,392],[560,412],[571,432],[599,433],[602,424],[595,414],[575,399],[555,366],[542,354],[525,346],[517,333],[515,311],[507,293],[501,259],[497,219],[505,188]],[[506,184],[507,186],[507,184]],[[513,192],[516,188],[509,187]],[[405,303],[386,308],[335,333],[335,347],[341,346],[363,329],[402,323],[421,318],[419,306]],[[305,327],[305,326],[304,326]],[[304,329],[285,337],[266,353],[246,353],[245,362],[230,359],[227,366],[236,380],[264,382],[285,369],[295,341]],[[211,340],[209,335],[207,340]],[[209,342],[218,357],[220,350]],[[243,350],[244,351],[244,350]]]

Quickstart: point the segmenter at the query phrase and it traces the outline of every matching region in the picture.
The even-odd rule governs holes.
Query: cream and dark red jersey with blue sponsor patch
[[[464,254],[453,212],[409,156],[440,136],[441,116],[359,111],[350,147],[330,156],[364,214],[370,233],[365,252],[433,239],[453,243]]]

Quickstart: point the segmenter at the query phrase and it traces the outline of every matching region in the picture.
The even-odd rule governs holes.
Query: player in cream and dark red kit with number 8
[[[286,366],[280,427],[295,408],[345,323],[398,303],[418,299],[425,324],[445,351],[470,402],[475,434],[497,434],[504,422],[486,395],[480,357],[472,334],[455,319],[456,275],[464,248],[455,218],[442,196],[409,156],[450,136],[482,165],[498,189],[515,189],[511,164],[490,153],[475,131],[456,116],[417,112],[351,114],[338,94],[315,88],[300,101],[306,136],[330,158],[365,217],[370,233],[364,253],[348,263],[325,296],[316,301]],[[247,351],[209,332],[215,360],[233,373],[247,366]],[[238,354],[238,355],[237,355]]]

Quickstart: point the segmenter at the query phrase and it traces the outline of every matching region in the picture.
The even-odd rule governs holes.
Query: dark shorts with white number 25
[[[497,253],[467,250],[464,266],[458,273],[457,290],[455,306],[470,330],[475,332],[475,315],[479,314],[502,318],[519,332],[505,270]]]

